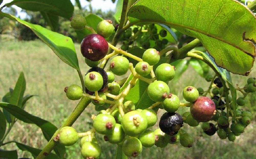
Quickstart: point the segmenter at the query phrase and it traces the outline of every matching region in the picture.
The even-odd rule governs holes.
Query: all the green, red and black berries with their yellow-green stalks
[[[73,22],[76,19],[73,17],[71,26],[74,29],[83,28],[84,26]],[[86,21],[83,25],[86,25]],[[237,105],[243,106],[247,93],[256,90],[255,78],[249,78],[244,88],[237,88],[244,97],[239,97],[237,103],[233,103],[228,95],[229,90],[223,85],[221,79],[207,75],[206,81],[211,82],[209,89],[204,91],[202,88],[187,86],[183,89],[183,98],[187,103],[181,103],[179,97],[170,92],[168,87],[169,81],[175,76],[175,67],[169,63],[159,63],[163,54],[157,50],[163,49],[168,43],[164,39],[160,41],[159,35],[165,37],[166,31],[161,30],[157,33],[153,24],[144,25],[140,30],[136,27],[133,30],[128,29],[121,36],[122,47],[116,48],[105,38],[112,35],[117,28],[118,26],[114,27],[110,20],[103,20],[98,24],[98,34],[90,34],[83,39],[81,53],[85,57],[86,64],[91,67],[84,77],[86,90],[83,92],[78,85],[65,88],[66,95],[71,100],[91,99],[95,110],[99,111],[97,116],[92,115],[93,128],[85,133],[77,133],[72,127],[63,127],[54,137],[56,142],[69,146],[81,137],[82,156],[86,159],[95,159],[101,154],[95,133],[102,134],[105,141],[122,146],[123,153],[133,157],[141,153],[142,147],[153,145],[163,148],[168,143],[179,142],[184,147],[192,147],[193,137],[181,129],[184,123],[195,127],[202,122],[201,127],[207,135],[214,135],[217,131],[221,139],[228,137],[230,141],[234,141],[236,136],[243,133],[252,115],[237,108]],[[139,58],[125,50],[137,36],[137,32],[142,32],[143,29],[146,31],[141,37],[143,42],[141,45],[146,50],[142,58]],[[156,41],[154,48],[149,48],[148,38]],[[110,53],[111,49],[114,50],[112,53]],[[126,57],[138,61],[135,67]],[[109,59],[109,69],[105,71],[103,68]],[[155,69],[153,69],[154,65]],[[132,78],[127,78],[126,85],[122,86],[123,84],[115,82],[116,75],[125,75],[129,70]],[[155,102],[144,110],[136,109],[138,106],[135,106],[132,101],[125,101],[128,92],[138,80],[148,83],[147,95]],[[123,87],[122,90],[121,87]],[[208,93],[211,99],[206,97]],[[224,97],[225,102],[222,100]],[[190,107],[190,112],[178,114],[176,111],[181,106]],[[157,122],[158,109],[164,109],[166,113],[160,118],[159,128],[153,131],[152,126]],[[209,121],[217,123],[208,123]],[[230,121],[232,124],[229,124]]]

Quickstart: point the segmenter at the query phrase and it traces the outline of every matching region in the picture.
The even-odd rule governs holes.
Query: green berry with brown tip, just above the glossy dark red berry
[[[110,37],[113,34],[114,30],[115,28],[111,20],[102,20],[97,26],[97,33],[104,38]]]

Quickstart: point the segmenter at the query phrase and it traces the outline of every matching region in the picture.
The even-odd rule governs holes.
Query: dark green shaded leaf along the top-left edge
[[[6,6],[16,5],[22,9],[31,11],[44,11],[69,19],[73,15],[74,6],[70,0],[14,0]]]

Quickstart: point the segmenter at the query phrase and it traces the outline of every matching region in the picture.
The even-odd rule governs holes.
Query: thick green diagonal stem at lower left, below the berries
[[[77,107],[73,110],[73,112],[69,115],[66,122],[62,124],[62,127],[65,126],[72,126],[73,123],[77,120],[77,118],[80,116],[80,114],[84,111],[84,109],[89,105],[91,102],[90,98],[82,97],[79,103],[77,104]],[[42,151],[37,155],[36,159],[44,159],[50,152],[53,150],[53,148],[56,145],[56,142],[53,140],[53,138],[58,134],[60,129],[58,129],[55,134],[52,136],[51,140],[47,143],[47,145],[42,149]]]

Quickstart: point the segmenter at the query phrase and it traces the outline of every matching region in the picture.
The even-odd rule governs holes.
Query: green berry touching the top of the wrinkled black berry
[[[174,94],[169,94],[163,101],[163,107],[167,112],[176,112],[179,108],[179,98]]]

